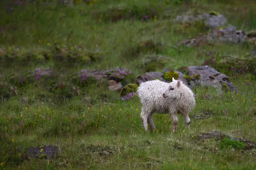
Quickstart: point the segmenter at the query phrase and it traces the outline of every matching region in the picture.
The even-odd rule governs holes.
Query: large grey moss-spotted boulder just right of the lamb
[[[214,68],[211,68],[207,65],[204,66],[189,66],[186,68],[187,74],[189,76],[198,74],[200,75],[200,79],[196,80],[196,84],[200,85],[210,85],[215,88],[221,88],[222,90],[229,90],[235,91],[236,88],[234,87],[233,83],[230,82],[229,77],[225,74],[222,74],[216,71]]]

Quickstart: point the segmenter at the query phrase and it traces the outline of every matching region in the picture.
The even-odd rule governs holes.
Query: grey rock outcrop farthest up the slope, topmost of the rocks
[[[175,23],[193,23],[195,21],[204,21],[204,25],[210,29],[225,26],[227,19],[215,11],[193,16],[193,15],[178,15],[175,17]]]

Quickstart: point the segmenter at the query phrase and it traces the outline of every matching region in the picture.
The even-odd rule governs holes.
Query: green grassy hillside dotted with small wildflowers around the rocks
[[[218,130],[256,142],[254,75],[230,76],[237,94],[194,87],[191,128],[178,115],[173,134],[167,114],[154,115],[157,131],[145,133],[137,96],[121,101],[106,81],[81,83],[73,75],[119,67],[131,71],[124,76],[125,85],[145,73],[138,64],[147,55],[167,57],[151,68],[163,71],[250,52],[250,45],[229,43],[175,48],[178,41],[206,30],[175,24],[173,18],[214,10],[247,32],[256,28],[253,1],[182,1],[97,0],[75,6],[1,2],[0,169],[256,169],[255,147],[198,138]],[[142,21],[143,15],[149,19]],[[161,49],[133,55],[142,41],[161,44]],[[29,71],[37,68],[51,72],[34,77]],[[27,148],[45,145],[55,146],[58,155],[51,160],[27,155]]]

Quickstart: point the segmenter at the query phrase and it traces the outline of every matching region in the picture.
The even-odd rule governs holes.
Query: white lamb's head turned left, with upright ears
[[[168,88],[163,93],[163,98],[165,99],[177,99],[181,96],[181,81],[175,80],[172,77],[172,82],[169,83]]]

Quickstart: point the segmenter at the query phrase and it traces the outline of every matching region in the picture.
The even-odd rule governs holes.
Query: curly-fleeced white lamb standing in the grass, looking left
[[[182,81],[172,78],[170,83],[160,80],[143,82],[137,88],[137,94],[142,104],[140,119],[145,131],[148,131],[148,124],[151,130],[156,130],[153,113],[169,113],[172,118],[172,133],[176,130],[177,113],[180,113],[189,129],[188,113],[195,106],[195,96]]]

